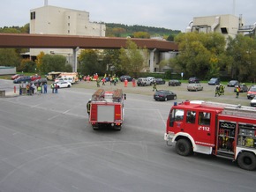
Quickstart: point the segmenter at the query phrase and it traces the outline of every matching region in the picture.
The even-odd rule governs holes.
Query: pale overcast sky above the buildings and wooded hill
[[[164,27],[182,32],[193,17],[235,14],[242,15],[245,26],[256,22],[256,0],[48,0],[48,4],[88,11],[92,22]],[[1,0],[0,27],[26,25],[30,10],[43,5],[44,0]]]

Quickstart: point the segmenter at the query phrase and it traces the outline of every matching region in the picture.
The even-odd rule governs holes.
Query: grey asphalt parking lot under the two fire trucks
[[[4,84],[11,91],[12,82],[0,80]],[[229,94],[235,97],[231,90],[215,98],[214,86],[202,94],[184,91],[185,85],[158,85],[178,95],[161,102],[154,101],[152,86],[102,87],[127,94],[121,131],[95,131],[88,123],[86,104],[97,89],[95,82],[80,82],[57,94],[48,90],[0,98],[1,192],[255,191],[255,172],[203,154],[179,156],[163,140],[174,101],[207,99],[207,94],[229,100]]]

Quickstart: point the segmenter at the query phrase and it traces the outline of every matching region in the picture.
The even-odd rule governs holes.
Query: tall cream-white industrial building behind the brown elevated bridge
[[[105,36],[106,26],[89,20],[89,12],[65,9],[48,5],[30,11],[30,33]],[[72,49],[31,48],[30,55],[36,56],[43,51],[45,54],[66,55],[73,62]]]

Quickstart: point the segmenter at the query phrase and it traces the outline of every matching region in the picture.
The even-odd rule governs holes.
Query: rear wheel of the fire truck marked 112
[[[237,157],[237,164],[242,169],[252,171],[256,168],[256,156],[252,152],[242,152]]]

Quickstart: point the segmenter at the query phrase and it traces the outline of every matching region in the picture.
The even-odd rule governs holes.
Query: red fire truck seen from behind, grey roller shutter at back
[[[124,122],[124,100],[126,95],[123,94],[122,89],[114,91],[98,89],[94,92],[89,115],[93,129],[110,125],[120,130]]]

